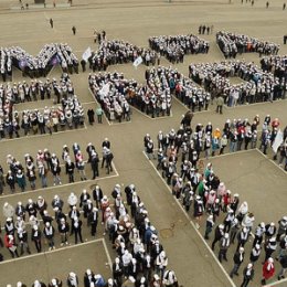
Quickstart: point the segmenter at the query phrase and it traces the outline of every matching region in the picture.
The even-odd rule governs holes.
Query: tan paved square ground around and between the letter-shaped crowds
[[[63,1],[64,2],[64,1]],[[265,1],[255,1],[252,8],[249,3],[241,4],[241,1],[172,1],[171,3],[161,1],[73,1],[73,7],[70,9],[30,9],[29,11],[10,10],[10,6],[18,6],[18,1],[1,1],[1,46],[21,45],[31,54],[38,54],[45,43],[50,42],[67,42],[76,54],[81,57],[82,53],[87,46],[96,49],[93,43],[94,29],[107,32],[109,39],[121,39],[130,41],[137,45],[147,46],[148,36],[159,34],[183,34],[196,33],[198,26],[202,23],[213,24],[214,32],[221,29],[244,34],[253,35],[258,39],[283,42],[283,34],[286,33],[286,11],[281,11],[281,1],[269,1],[269,9],[265,9]],[[49,19],[53,18],[54,29],[49,24]],[[71,28],[77,28],[77,34],[72,35]],[[188,65],[191,62],[211,62],[221,61],[223,56],[215,45],[215,36],[203,35],[202,38],[211,42],[211,50],[208,55],[192,55],[187,56],[183,64],[177,65],[185,75],[188,74]],[[281,45],[280,54],[287,52],[287,46]],[[247,61],[258,63],[257,54],[242,55]],[[170,65],[166,60],[162,60],[162,65]],[[117,65],[108,67],[108,71],[124,72],[127,77],[144,81],[145,66],[140,66],[137,71],[132,68],[131,64]],[[60,70],[55,68],[51,72],[50,77],[59,77]],[[93,106],[93,97],[87,89],[87,75],[81,73],[72,76],[76,92],[84,104],[85,108]],[[13,81],[20,81],[20,73],[15,73]],[[50,103],[38,102],[31,104],[31,107],[43,108]],[[51,103],[52,105],[52,103]],[[29,105],[30,106],[30,105]],[[26,104],[21,104],[17,107],[19,110],[28,108]],[[254,115],[259,114],[264,117],[266,114],[278,116],[281,123],[287,123],[287,102],[278,102],[273,104],[257,104],[236,108],[225,108],[224,114],[219,116],[214,113],[214,107],[208,113],[199,113],[194,117],[194,123],[206,124],[212,121],[214,126],[222,127],[226,118],[253,118]],[[149,210],[149,216],[155,223],[156,227],[161,231],[161,242],[167,249],[169,256],[170,267],[174,268],[178,274],[180,284],[184,287],[196,286],[214,286],[214,287],[230,287],[233,286],[230,279],[224,275],[217,262],[204,245],[199,234],[190,224],[190,219],[184,215],[182,210],[176,203],[171,194],[168,193],[167,187],[151,168],[150,163],[142,155],[142,137],[149,132],[153,138],[159,129],[164,131],[170,128],[177,128],[181,115],[187,110],[180,103],[173,100],[172,114],[173,116],[164,119],[148,119],[140,113],[134,109],[130,124],[109,126],[107,121],[103,125],[87,126],[85,129],[72,130],[53,136],[44,137],[25,137],[21,140],[2,140],[0,142],[0,162],[3,162],[7,153],[12,153],[14,157],[23,160],[23,155],[30,152],[35,155],[38,149],[49,148],[57,155],[62,150],[64,144],[72,146],[73,142],[78,142],[84,149],[87,142],[92,141],[99,150],[102,140],[108,137],[111,140],[115,166],[119,177],[100,179],[98,183],[103,187],[106,194],[110,191],[115,183],[128,184],[134,182],[137,185],[139,195],[142,198]],[[264,199],[268,201],[274,196],[283,198],[283,201],[274,201],[274,210],[280,216],[284,212],[284,200],[286,201],[286,176],[278,170],[273,163],[269,163],[264,157],[256,151],[251,155],[234,155],[223,158],[212,159],[216,167],[216,172],[230,184],[231,190],[246,195],[249,205],[253,206],[256,220],[273,219],[268,217],[268,210],[266,211],[263,204],[258,204],[256,195],[263,194]],[[241,168],[237,168],[237,164]],[[228,172],[230,169],[234,173]],[[256,168],[256,173],[253,172]],[[257,168],[259,168],[257,170]],[[244,170],[244,171],[243,171]],[[252,171],[249,176],[246,172]],[[269,172],[269,173],[268,173]],[[228,177],[226,177],[226,173]],[[248,172],[249,173],[249,172]],[[236,176],[237,174],[237,176]],[[274,176],[272,176],[274,174]],[[105,176],[105,174],[104,174]],[[232,176],[232,178],[230,178]],[[225,179],[226,177],[226,179]],[[240,179],[238,179],[238,178]],[[245,180],[248,190],[245,189]],[[79,182],[73,185],[63,185],[49,190],[36,190],[31,193],[18,193],[13,196],[0,198],[0,206],[3,202],[9,201],[15,204],[19,200],[25,202],[29,198],[36,199],[42,194],[50,202],[54,194],[61,194],[65,199],[71,191],[81,193],[83,188],[89,188],[92,182]],[[278,185],[277,185],[278,184]],[[261,188],[262,185],[262,188]],[[276,191],[273,188],[276,187]],[[248,192],[251,191],[251,192]],[[276,192],[276,195],[274,195]],[[6,194],[8,195],[8,194]],[[51,211],[50,211],[51,212]],[[2,216],[2,215],[1,215]],[[2,217],[1,217],[2,220]],[[103,231],[100,231],[103,233]],[[99,232],[98,237],[102,237]],[[89,238],[88,238],[89,240]],[[107,243],[111,256],[114,255],[109,243]],[[30,283],[32,280],[31,269],[38,269],[43,274],[43,279],[51,279],[52,276],[74,269],[79,274],[91,264],[92,269],[95,269],[95,261],[100,258],[98,270],[107,276],[107,269],[103,265],[107,259],[104,254],[104,248],[93,247],[97,253],[102,251],[102,255],[95,257],[85,256],[85,266],[81,262],[73,265],[65,265],[62,269],[61,258],[62,254],[65,256],[82,256],[87,254],[89,245],[83,247],[73,247],[71,249],[53,253],[53,255],[43,255],[42,257],[53,257],[55,269],[51,269],[47,259],[42,257],[25,258],[25,264],[21,265],[21,272],[18,273],[19,279]],[[85,248],[85,251],[83,251]],[[71,252],[73,251],[73,253]],[[64,255],[63,255],[64,256]],[[86,258],[88,257],[88,258]],[[103,258],[103,259],[102,259]],[[41,263],[40,263],[41,262]],[[12,263],[12,265],[17,265]],[[11,278],[13,268],[9,268],[11,263],[3,263],[0,268],[0,285],[7,284],[7,278]],[[17,266],[15,266],[17,267]],[[82,268],[83,267],[83,268]],[[224,266],[230,270],[231,265]],[[57,273],[59,272],[59,273]],[[259,270],[256,270],[256,280],[253,286],[259,286]],[[6,276],[2,276],[6,275]],[[36,274],[35,274],[36,276]],[[64,278],[65,276],[61,276]],[[14,281],[14,280],[13,280]],[[235,280],[238,286],[240,279]],[[278,285],[284,286],[284,285]]]

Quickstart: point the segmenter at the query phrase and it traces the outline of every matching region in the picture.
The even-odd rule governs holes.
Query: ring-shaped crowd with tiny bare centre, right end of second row
[[[189,75],[211,93],[212,100],[222,96],[230,107],[237,104],[273,102],[286,96],[287,86],[283,79],[244,61],[191,64]],[[242,78],[244,83],[232,85],[230,77],[234,76]]]

